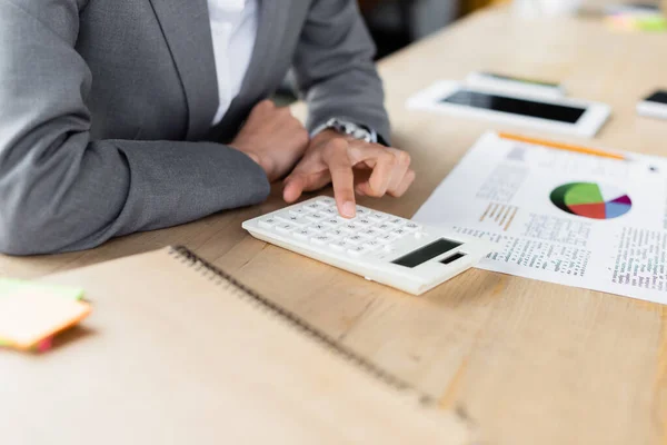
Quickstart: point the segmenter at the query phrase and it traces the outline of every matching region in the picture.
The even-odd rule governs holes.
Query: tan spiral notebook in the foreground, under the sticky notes
[[[468,444],[410,385],[186,248],[46,278],[94,310],[42,356],[0,355],[8,444]]]

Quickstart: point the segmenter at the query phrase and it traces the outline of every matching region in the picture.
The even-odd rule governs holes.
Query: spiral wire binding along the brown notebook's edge
[[[379,378],[380,380],[392,386],[394,388],[399,389],[399,390],[416,392],[417,395],[419,396],[419,402],[422,405],[435,404],[435,399],[432,397],[419,393],[415,387],[412,387],[405,380],[387,373],[386,370],[378,367],[377,365],[369,362],[368,359],[361,357],[354,350],[342,346],[341,344],[336,342],[334,338],[329,337],[327,334],[315,328],[308,322],[305,322],[303,319],[299,318],[293,313],[285,309],[283,307],[280,307],[276,303],[262,297],[255,290],[248,288],[242,283],[238,281],[231,275],[220,270],[212,264],[200,258],[197,254],[192,253],[187,247],[183,247],[183,246],[171,247],[169,250],[169,254],[181,258],[183,260],[183,263],[190,264],[190,266],[195,267],[195,269],[197,271],[201,271],[205,276],[208,276],[210,279],[216,279],[216,278],[219,279],[218,284],[220,284],[220,285],[228,284],[229,287],[235,288],[236,290],[238,290],[242,294],[242,295],[239,295],[239,297],[250,298],[252,301],[255,301],[261,308],[265,308],[266,310],[272,313],[273,315],[282,318],[285,322],[287,322],[291,326],[296,327],[301,333],[308,335],[309,337],[317,340],[321,345],[326,346],[327,348],[331,349],[336,354],[342,356],[347,360],[354,363],[355,365],[359,366],[360,368],[365,369],[367,373]]]

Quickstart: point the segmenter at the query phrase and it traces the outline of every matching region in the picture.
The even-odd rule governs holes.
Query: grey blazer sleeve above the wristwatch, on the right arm
[[[389,141],[376,48],[356,0],[313,0],[295,57],[310,130],[332,117],[372,128]]]

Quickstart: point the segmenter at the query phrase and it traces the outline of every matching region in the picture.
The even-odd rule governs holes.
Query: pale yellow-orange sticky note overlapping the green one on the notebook
[[[54,297],[48,291],[17,290],[0,298],[0,338],[18,349],[67,329],[91,312],[89,304]]]

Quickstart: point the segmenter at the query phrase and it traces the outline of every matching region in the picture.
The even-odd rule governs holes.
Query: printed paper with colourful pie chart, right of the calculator
[[[412,219],[496,243],[478,267],[667,304],[667,160],[487,134]]]

